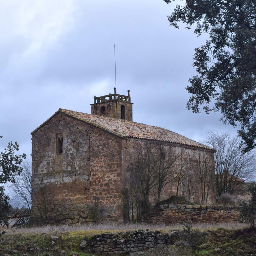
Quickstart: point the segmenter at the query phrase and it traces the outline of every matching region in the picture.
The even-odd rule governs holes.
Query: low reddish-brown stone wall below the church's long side
[[[196,223],[233,222],[238,220],[238,209],[237,206],[162,204],[146,220],[150,224],[174,224],[185,220]]]

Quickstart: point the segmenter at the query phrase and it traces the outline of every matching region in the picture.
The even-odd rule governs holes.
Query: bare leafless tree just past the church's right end
[[[255,150],[243,153],[237,137],[216,131],[208,132],[205,143],[217,150],[214,158],[218,196],[242,193],[244,181],[255,179]]]

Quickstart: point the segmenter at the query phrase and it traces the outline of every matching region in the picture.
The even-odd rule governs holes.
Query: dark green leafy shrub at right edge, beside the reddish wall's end
[[[251,199],[248,203],[242,202],[240,204],[240,221],[246,222],[251,225],[252,228],[255,228],[256,220],[256,183],[249,185],[248,190],[251,195]]]

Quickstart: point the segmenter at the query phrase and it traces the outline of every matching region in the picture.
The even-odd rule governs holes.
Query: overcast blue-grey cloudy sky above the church
[[[1,1],[0,150],[18,141],[31,159],[31,135],[59,108],[91,113],[93,96],[129,89],[133,121],[194,140],[230,131],[219,114],[186,109],[194,49],[206,36],[170,28],[163,0]]]

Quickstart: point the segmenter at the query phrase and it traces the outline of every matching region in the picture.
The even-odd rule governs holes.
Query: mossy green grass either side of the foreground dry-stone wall
[[[93,254],[84,252],[80,248],[82,240],[92,238],[94,234],[105,232],[120,232],[122,230],[86,230],[86,231],[61,231],[47,232],[40,234],[5,234],[0,239],[0,255],[20,256],[92,256]],[[182,256],[252,256],[256,255],[256,230],[252,229],[214,229],[207,231],[208,236],[204,244],[200,245],[196,252],[182,252]],[[53,239],[57,236],[59,239]],[[54,243],[52,243],[54,242]],[[29,248],[36,251],[29,251]],[[36,249],[37,248],[37,249]],[[39,249],[38,249],[39,248]],[[176,250],[175,245],[171,245],[172,250]],[[185,249],[185,248],[184,248]],[[64,251],[64,252],[63,252]],[[178,252],[181,252],[179,249]],[[180,255],[180,254],[176,255]],[[160,255],[155,255],[160,256]],[[167,256],[172,256],[167,255]]]

